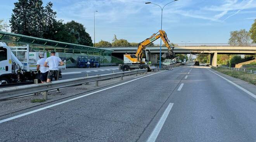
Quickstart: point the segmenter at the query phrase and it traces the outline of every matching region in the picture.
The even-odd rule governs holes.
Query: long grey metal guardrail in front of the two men
[[[40,84],[33,84],[33,85],[23,85],[23,86],[17,86],[17,87],[3,88],[0,90],[0,100],[6,100],[6,99],[34,94],[38,92],[50,91],[58,88],[82,85],[84,83],[90,83],[94,81],[96,81],[96,86],[97,86],[99,85],[98,83],[100,80],[118,78],[118,77],[121,77],[121,79],[123,79],[123,76],[137,74],[137,73],[145,73],[145,72],[147,72],[147,69],[136,69],[133,71],[124,71],[119,73],[109,73],[109,74],[101,74],[101,75],[88,76],[88,77],[82,77],[82,78],[58,80],[50,83],[40,83]],[[47,97],[45,99],[47,99]]]

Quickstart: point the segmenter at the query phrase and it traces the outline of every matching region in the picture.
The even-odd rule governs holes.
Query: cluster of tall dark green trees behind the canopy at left
[[[92,38],[82,24],[75,21],[63,24],[62,20],[57,21],[57,13],[52,10],[52,6],[49,2],[43,7],[42,0],[18,0],[12,10],[11,32],[93,46]]]

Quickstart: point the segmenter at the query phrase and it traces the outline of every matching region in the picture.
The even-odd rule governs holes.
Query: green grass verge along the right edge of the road
[[[229,70],[229,69],[224,69],[224,68],[212,68],[220,73],[227,74],[229,76],[232,76],[234,78],[239,78],[243,81],[246,81],[248,83],[251,83],[253,85],[256,85],[256,74],[252,73],[246,73],[242,71],[234,71],[234,70]]]

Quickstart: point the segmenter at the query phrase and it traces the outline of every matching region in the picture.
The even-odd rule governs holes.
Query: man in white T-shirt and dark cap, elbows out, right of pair
[[[49,64],[49,65],[47,65],[47,64]],[[58,66],[62,66],[62,65],[64,65],[63,61],[61,60],[61,58],[55,56],[55,51],[52,50],[51,56],[48,57],[44,63],[45,67],[49,67],[49,72],[47,75],[47,82],[52,81],[52,78],[54,78],[55,80],[59,79],[59,67]]]

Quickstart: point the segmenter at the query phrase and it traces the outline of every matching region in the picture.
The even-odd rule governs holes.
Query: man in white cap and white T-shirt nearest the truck
[[[42,52],[40,52],[38,54],[39,56],[39,60],[37,61],[37,71],[40,71],[41,73],[39,74],[40,76],[40,80],[42,83],[47,81],[47,75],[48,75],[48,68],[43,66],[43,64],[45,63],[46,58],[44,58],[44,54]]]

